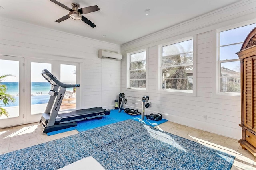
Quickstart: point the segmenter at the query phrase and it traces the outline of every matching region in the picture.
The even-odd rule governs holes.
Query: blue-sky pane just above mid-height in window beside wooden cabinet
[[[238,59],[236,52],[240,51],[241,44],[220,47],[220,60]]]

